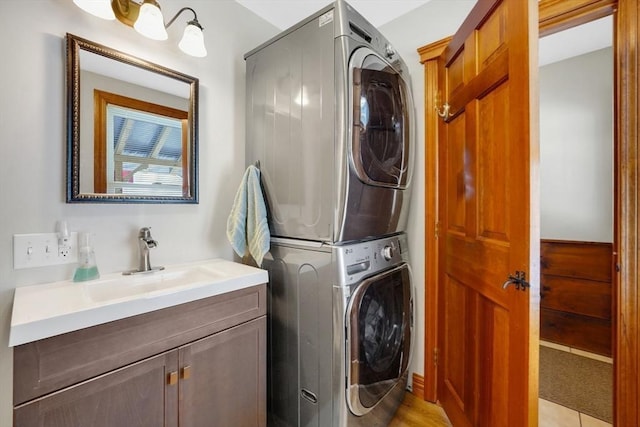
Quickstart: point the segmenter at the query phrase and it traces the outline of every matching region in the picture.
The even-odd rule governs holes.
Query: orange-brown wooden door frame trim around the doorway
[[[640,6],[637,0],[541,0],[540,35],[614,14],[615,189],[618,266],[613,289],[614,425],[640,425]],[[418,49],[425,72],[425,353],[424,399],[437,400],[438,89],[437,59],[450,38]]]

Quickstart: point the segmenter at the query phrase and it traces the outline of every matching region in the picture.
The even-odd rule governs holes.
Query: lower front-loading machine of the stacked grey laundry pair
[[[270,427],[383,427],[401,403],[413,333],[404,234],[348,245],[275,239],[269,270]]]

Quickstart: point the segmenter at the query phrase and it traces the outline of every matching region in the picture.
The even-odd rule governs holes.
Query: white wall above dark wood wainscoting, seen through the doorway
[[[613,241],[613,53],[540,68],[540,234]]]

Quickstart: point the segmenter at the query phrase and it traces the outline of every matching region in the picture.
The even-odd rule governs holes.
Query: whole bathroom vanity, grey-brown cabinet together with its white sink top
[[[213,260],[110,275],[94,288],[16,289],[14,425],[265,426],[267,280],[264,270]],[[57,315],[20,313],[29,299],[73,290]],[[29,324],[53,335],[21,342],[36,336]]]

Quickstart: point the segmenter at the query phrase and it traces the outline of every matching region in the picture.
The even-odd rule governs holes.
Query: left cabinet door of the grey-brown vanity
[[[164,353],[18,406],[16,427],[177,426],[178,352]],[[177,377],[176,377],[177,379]]]

